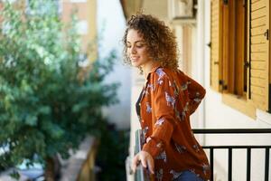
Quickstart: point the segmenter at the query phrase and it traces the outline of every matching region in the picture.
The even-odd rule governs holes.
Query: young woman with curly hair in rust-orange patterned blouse
[[[208,180],[208,159],[190,125],[205,90],[178,70],[170,28],[152,15],[136,14],[128,21],[123,43],[125,62],[145,76],[136,103],[145,144],[134,157],[133,170],[141,163],[158,181]]]

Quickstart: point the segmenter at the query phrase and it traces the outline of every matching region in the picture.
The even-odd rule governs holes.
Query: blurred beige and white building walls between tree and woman
[[[114,11],[112,11],[114,9]],[[117,0],[62,0],[62,19],[70,21],[70,14],[77,10],[79,18],[79,33],[82,48],[89,52],[89,62],[96,59],[106,61],[111,51],[116,52],[117,62],[113,71],[107,75],[105,83],[118,82],[119,102],[103,108],[103,115],[117,129],[129,129],[131,72],[129,67],[122,64],[122,35],[125,29],[125,18]],[[90,47],[89,47],[90,43]],[[84,70],[84,71],[88,71]]]

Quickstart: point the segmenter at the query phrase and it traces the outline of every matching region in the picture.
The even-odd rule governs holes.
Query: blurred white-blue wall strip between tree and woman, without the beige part
[[[116,11],[112,11],[112,9]],[[105,14],[105,12],[110,12]],[[104,115],[117,129],[130,128],[131,107],[131,68],[123,64],[122,36],[126,28],[126,20],[118,0],[98,0],[98,54],[99,60],[106,60],[107,54],[115,50],[117,62],[114,70],[107,76],[107,82],[119,82],[117,90],[119,103],[103,110]]]

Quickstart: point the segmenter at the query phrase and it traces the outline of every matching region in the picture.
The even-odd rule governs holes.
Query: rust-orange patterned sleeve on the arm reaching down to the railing
[[[157,157],[164,150],[164,145],[170,144],[173,134],[175,98],[172,83],[164,75],[157,81],[152,94],[152,107],[154,114],[153,134],[146,139],[143,150],[152,157]]]

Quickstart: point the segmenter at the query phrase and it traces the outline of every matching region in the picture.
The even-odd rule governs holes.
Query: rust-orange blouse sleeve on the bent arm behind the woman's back
[[[192,80],[192,78],[188,76],[186,76],[186,78],[189,95],[189,110],[190,115],[192,115],[192,113],[199,107],[201,100],[205,96],[206,90],[197,81]]]

